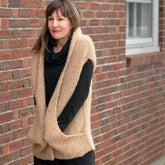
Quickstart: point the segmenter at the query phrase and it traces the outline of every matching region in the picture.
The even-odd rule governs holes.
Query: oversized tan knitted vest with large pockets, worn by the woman
[[[88,59],[95,68],[93,42],[78,28],[72,36],[65,67],[46,108],[44,50],[32,56],[32,89],[37,105],[34,107],[35,118],[28,138],[36,157],[43,160],[72,159],[95,149],[90,128],[91,86],[87,99],[64,132],[61,132],[57,123],[57,118],[71,98],[82,67]]]

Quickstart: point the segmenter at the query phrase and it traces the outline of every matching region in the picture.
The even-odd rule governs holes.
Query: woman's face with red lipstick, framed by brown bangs
[[[48,17],[48,29],[51,36],[56,40],[67,40],[71,34],[72,27],[69,18],[64,17],[60,10],[58,10],[58,12],[54,11],[53,14]]]

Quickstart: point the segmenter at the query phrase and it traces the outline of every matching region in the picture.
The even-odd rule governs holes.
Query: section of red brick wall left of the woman
[[[46,2],[0,0],[0,164],[29,164],[32,123],[31,47],[43,25]]]

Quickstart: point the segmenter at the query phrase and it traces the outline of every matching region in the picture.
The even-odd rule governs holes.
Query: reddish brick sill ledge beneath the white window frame
[[[127,55],[126,57],[127,67],[150,65],[156,63],[165,64],[165,52]]]

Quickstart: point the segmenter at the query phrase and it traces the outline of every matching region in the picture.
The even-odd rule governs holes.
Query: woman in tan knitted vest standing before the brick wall
[[[32,49],[35,118],[28,133],[35,165],[94,165],[90,128],[92,40],[71,0],[54,0]]]

